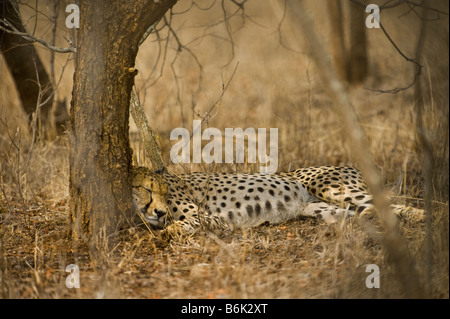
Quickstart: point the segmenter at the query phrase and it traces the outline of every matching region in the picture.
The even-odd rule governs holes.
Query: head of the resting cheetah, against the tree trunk
[[[146,167],[132,171],[133,210],[153,228],[163,228],[168,216],[167,181]]]

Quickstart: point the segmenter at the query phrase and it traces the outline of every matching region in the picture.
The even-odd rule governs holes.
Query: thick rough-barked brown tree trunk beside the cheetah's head
[[[130,221],[128,120],[135,57],[146,29],[175,3],[80,1],[70,119],[70,217],[76,240],[98,247]]]

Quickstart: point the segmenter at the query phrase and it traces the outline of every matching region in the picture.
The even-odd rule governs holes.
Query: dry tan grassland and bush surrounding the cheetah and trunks
[[[34,2],[33,2],[34,3]],[[46,13],[46,1],[39,10]],[[66,42],[65,4],[61,2],[58,41]],[[136,89],[169,163],[170,131],[204,128],[271,128],[279,130],[279,170],[310,165],[354,165],[335,117],[333,101],[323,91],[301,39],[289,39],[269,3],[248,1],[245,17],[223,22],[220,1],[190,6],[179,1],[168,28],[141,46]],[[430,2],[448,12],[448,3]],[[325,1],[307,3],[319,32],[328,37]],[[21,13],[27,29],[35,23],[34,4]],[[230,14],[234,4],[225,1]],[[443,7],[443,8],[442,8]],[[185,12],[186,11],[186,12]],[[419,8],[401,6],[382,12],[382,23],[397,46],[414,57],[420,32]],[[175,14],[176,13],[176,14]],[[345,19],[345,16],[344,16]],[[117,22],[119,23],[119,22]],[[424,117],[433,150],[431,257],[423,225],[403,222],[403,235],[427,297],[448,298],[448,15],[429,22],[421,80],[427,91]],[[37,35],[46,38],[51,23],[38,15]],[[176,36],[176,37],[175,37]],[[414,65],[407,63],[379,29],[367,30],[370,77],[350,89],[350,97],[369,138],[371,155],[396,203],[423,207],[422,154],[415,133]],[[280,40],[281,39],[281,40]],[[285,41],[286,39],[290,41]],[[294,45],[287,48],[282,43]],[[48,63],[48,50],[36,45]],[[68,60],[67,64],[66,61]],[[367,234],[358,222],[325,225],[299,219],[263,225],[220,236],[197,234],[187,242],[161,243],[136,227],[106,256],[103,268],[74,250],[67,235],[68,141],[32,144],[14,84],[0,60],[0,290],[2,297],[139,297],[139,298],[394,298],[404,297],[388,262],[379,234]],[[70,100],[73,64],[56,55],[56,76],[63,72],[59,97]],[[63,70],[64,69],[64,70]],[[223,87],[228,83],[226,90]],[[223,96],[222,96],[223,94]],[[219,99],[222,96],[221,99]],[[216,104],[216,101],[219,102]],[[214,106],[214,107],[213,107]],[[212,108],[212,110],[211,110]],[[136,162],[147,164],[130,119]],[[255,171],[254,165],[174,166],[173,171]],[[65,287],[68,264],[81,269],[81,288]],[[381,288],[367,289],[367,264],[381,270]],[[432,282],[424,282],[431,264]]]

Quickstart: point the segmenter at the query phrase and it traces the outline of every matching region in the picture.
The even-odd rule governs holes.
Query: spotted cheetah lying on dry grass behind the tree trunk
[[[152,228],[193,233],[281,223],[298,216],[324,219],[373,210],[359,170],[317,166],[277,174],[132,172],[133,210]],[[398,215],[421,219],[420,209],[392,205]]]

